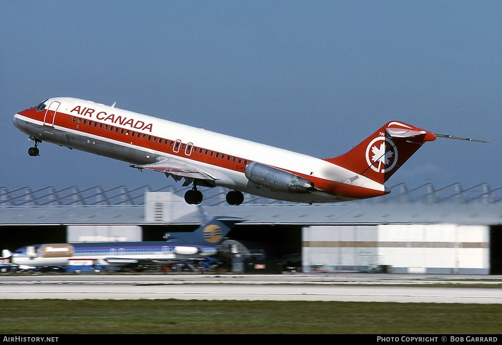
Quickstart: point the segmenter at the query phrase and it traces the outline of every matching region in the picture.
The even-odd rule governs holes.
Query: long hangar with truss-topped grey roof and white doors
[[[399,184],[380,198],[314,205],[246,195],[240,206],[226,204],[223,188],[207,189],[201,205],[187,205],[186,190],[1,188],[0,249],[159,241],[165,233],[231,216],[243,222],[229,239],[285,265],[296,261],[304,272],[502,274],[502,187]]]

